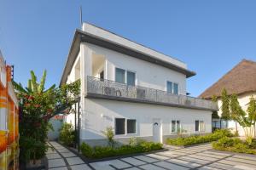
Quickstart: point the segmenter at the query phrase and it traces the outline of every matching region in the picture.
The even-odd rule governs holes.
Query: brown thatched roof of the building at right
[[[242,59],[232,70],[221,77],[199,97],[211,99],[212,95],[219,97],[223,89],[228,94],[244,94],[256,91],[256,62]]]

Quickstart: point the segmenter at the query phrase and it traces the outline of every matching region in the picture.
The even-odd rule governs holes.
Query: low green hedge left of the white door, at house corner
[[[137,140],[137,139],[135,139]],[[81,144],[82,154],[88,158],[103,158],[110,156],[124,156],[135,153],[148,152],[152,150],[161,150],[162,144],[137,140],[136,144],[125,144],[113,148],[111,146],[90,147],[89,144]]]

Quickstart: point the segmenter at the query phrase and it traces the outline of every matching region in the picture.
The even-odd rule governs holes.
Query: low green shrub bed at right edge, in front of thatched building
[[[238,153],[256,154],[256,150],[253,150],[253,146],[237,138],[231,139],[228,137],[224,137],[216,142],[213,142],[212,148],[215,150],[226,150]]]

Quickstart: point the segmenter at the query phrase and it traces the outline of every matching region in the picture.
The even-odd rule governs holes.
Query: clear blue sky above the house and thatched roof
[[[47,86],[59,84],[80,5],[84,21],[187,63],[193,96],[241,59],[256,60],[256,1],[0,0],[0,49],[16,82],[46,69]]]

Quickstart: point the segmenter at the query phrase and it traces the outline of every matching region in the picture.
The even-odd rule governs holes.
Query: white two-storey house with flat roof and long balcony
[[[106,127],[113,127],[120,143],[131,137],[164,142],[181,128],[212,133],[212,111],[218,107],[186,96],[186,78],[192,76],[177,59],[84,23],[61,77],[61,84],[81,80],[80,116],[65,120],[79,128],[80,143],[91,145],[106,144]]]

